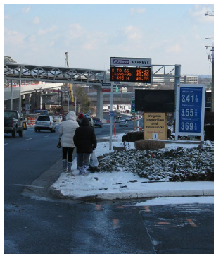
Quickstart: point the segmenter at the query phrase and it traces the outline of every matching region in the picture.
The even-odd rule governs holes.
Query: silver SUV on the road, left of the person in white
[[[56,123],[54,122],[52,116],[48,116],[48,115],[37,116],[37,120],[34,125],[34,131],[37,132],[40,130],[50,130],[51,133],[56,132]]]

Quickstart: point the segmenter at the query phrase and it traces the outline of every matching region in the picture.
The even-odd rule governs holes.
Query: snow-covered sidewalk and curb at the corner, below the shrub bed
[[[113,146],[123,147],[122,142],[115,142],[120,138],[122,138],[122,135],[113,138]],[[166,145],[166,147],[177,146],[197,147],[198,145]],[[129,142],[129,147],[133,149],[134,142]],[[108,142],[98,143],[96,147],[97,156],[109,152],[113,152],[113,150],[109,150]],[[194,196],[212,196],[214,194],[214,183],[212,181],[149,181],[147,178],[140,178],[134,176],[134,173],[127,173],[120,169],[113,170],[111,173],[89,172],[88,176],[80,176],[77,171],[76,159],[72,163],[72,174],[74,176],[70,173],[61,173],[56,183],[51,185],[51,193],[58,197],[69,197],[75,200],[84,198],[114,200],[151,197],[191,197],[192,199]]]

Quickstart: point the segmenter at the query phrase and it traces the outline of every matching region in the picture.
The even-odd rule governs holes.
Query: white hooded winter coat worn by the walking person
[[[66,116],[66,121],[63,121],[58,129],[58,133],[61,134],[61,146],[62,147],[75,147],[73,142],[73,136],[75,135],[76,128],[79,127],[75,112],[70,111]]]

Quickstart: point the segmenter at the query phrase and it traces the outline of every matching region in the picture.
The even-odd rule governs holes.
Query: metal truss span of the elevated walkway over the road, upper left
[[[106,80],[106,71],[4,63],[4,78],[8,80],[101,85]]]

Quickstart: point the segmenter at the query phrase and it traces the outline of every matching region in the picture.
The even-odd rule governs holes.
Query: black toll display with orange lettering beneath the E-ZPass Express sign
[[[151,83],[151,68],[110,67],[110,81]]]

